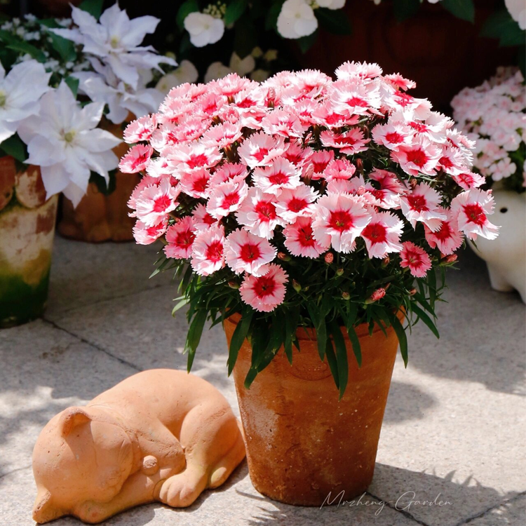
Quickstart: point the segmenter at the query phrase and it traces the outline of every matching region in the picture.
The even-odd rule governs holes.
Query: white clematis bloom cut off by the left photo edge
[[[39,111],[40,97],[51,89],[50,76],[36,60],[20,62],[7,75],[0,64],[0,142],[15,135],[20,121]]]

